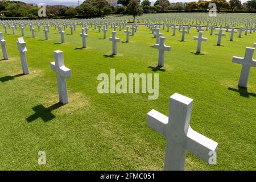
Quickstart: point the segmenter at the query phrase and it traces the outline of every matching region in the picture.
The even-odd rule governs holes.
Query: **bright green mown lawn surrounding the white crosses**
[[[90,28],[82,47],[77,26],[74,35],[65,30],[65,43],[54,27],[44,40],[35,27],[36,38],[25,28],[29,75],[21,75],[16,39],[4,34],[9,60],[0,61],[0,169],[24,170],[162,170],[166,140],[146,126],[151,109],[168,115],[169,97],[174,93],[193,98],[191,127],[218,142],[217,165],[187,152],[186,170],[256,170],[256,69],[251,68],[246,89],[238,88],[241,65],[233,56],[243,57],[246,47],[256,42],[256,33],[247,36],[224,32],[222,46],[217,36],[204,31],[200,54],[195,54],[195,28],[180,42],[181,33],[160,30],[171,52],[165,53],[163,68],[157,68],[158,50],[151,31],[139,26],[130,42],[117,31],[117,55],[103,32]],[[3,28],[1,27],[1,31]],[[119,30],[119,28],[117,28]],[[218,32],[215,30],[214,32]],[[123,42],[122,42],[123,41]],[[64,53],[71,69],[67,79],[69,104],[58,104],[56,74],[49,63],[53,51]],[[2,59],[2,52],[0,53]],[[256,53],[254,53],[256,59]],[[99,94],[100,73],[159,73],[159,98],[148,94]],[[38,164],[38,152],[46,152],[46,165]]]

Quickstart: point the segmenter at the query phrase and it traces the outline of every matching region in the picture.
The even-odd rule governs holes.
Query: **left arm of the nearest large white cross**
[[[152,109],[147,113],[147,127],[155,130],[159,134],[166,137],[165,127],[168,123],[168,117],[158,111]]]

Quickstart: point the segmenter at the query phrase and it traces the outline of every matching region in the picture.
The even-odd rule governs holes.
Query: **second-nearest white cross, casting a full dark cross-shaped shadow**
[[[59,100],[62,104],[68,104],[68,89],[66,78],[71,77],[71,70],[64,65],[64,57],[62,51],[54,51],[54,59],[55,61],[50,65],[51,69],[57,75]]]

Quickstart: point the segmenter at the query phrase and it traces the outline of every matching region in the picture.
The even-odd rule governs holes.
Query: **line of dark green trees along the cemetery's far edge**
[[[205,11],[209,3],[216,3],[217,11],[256,11],[256,0],[241,3],[240,0],[212,0],[189,3],[170,3],[168,0],[157,0],[153,6],[149,0],[118,0],[118,7],[112,7],[106,0],[85,0],[80,6],[53,5],[46,6],[47,18],[79,18],[109,14],[127,14],[135,16],[143,13],[161,13],[171,11]],[[0,17],[39,18],[37,6],[20,1],[0,1]]]

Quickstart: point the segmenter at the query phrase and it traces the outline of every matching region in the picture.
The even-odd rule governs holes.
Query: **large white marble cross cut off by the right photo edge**
[[[241,86],[243,88],[247,87],[250,67],[256,67],[256,60],[253,59],[254,50],[255,48],[246,47],[245,57],[234,56],[232,59],[233,63],[242,64],[242,70],[241,70],[238,86]]]

